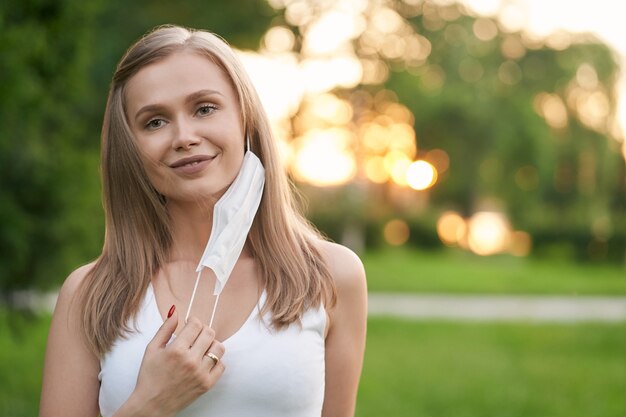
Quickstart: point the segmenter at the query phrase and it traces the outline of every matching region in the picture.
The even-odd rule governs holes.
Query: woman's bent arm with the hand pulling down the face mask
[[[52,318],[41,392],[40,417],[100,415],[100,361],[87,348],[80,329],[76,290],[89,268],[78,269],[63,285]],[[135,390],[115,417],[173,416],[208,391],[224,372],[215,332],[191,317],[168,344],[178,324],[173,311],[146,347]]]

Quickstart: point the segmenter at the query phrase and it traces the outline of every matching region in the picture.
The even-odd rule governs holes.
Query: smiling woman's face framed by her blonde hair
[[[148,177],[168,203],[219,199],[244,153],[239,101],[225,73],[206,57],[177,52],[135,74],[125,100]]]

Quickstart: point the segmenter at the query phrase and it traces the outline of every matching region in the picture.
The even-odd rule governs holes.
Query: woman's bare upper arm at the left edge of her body
[[[52,316],[43,372],[40,417],[99,416],[98,358],[82,338],[77,289],[91,267],[65,280]]]

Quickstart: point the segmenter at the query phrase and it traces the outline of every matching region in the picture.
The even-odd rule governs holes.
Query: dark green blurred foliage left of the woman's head
[[[97,133],[84,123],[97,110],[86,103],[100,6],[0,3],[0,294],[50,285],[100,228]]]

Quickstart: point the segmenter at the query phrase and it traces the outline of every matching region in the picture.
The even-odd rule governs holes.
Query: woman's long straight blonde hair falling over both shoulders
[[[266,169],[261,205],[248,235],[267,294],[264,312],[271,311],[272,324],[281,328],[297,322],[308,308],[335,302],[333,279],[315,244],[320,235],[294,202],[267,116],[241,62],[214,34],[162,26],[139,39],[119,62],[104,115],[104,247],[80,293],[82,329],[99,355],[130,330],[129,320],[172,243],[165,201],[148,180],[128,125],[124,88],[141,68],[181,50],[206,56],[230,78],[245,134]]]

